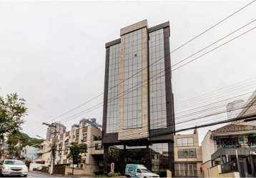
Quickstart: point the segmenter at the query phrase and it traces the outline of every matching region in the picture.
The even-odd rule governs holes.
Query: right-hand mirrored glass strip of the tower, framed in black
[[[149,33],[149,114],[151,130],[167,127],[163,29]]]

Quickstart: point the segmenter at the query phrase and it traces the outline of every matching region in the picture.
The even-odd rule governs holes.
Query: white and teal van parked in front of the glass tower
[[[154,174],[149,171],[147,167],[144,167],[142,164],[127,164],[125,167],[125,176],[126,177],[159,177],[159,175]]]

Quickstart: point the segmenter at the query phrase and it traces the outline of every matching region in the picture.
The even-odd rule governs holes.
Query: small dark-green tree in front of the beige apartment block
[[[77,164],[77,166],[79,166],[82,156],[87,153],[87,145],[83,143],[78,144],[77,142],[73,142],[69,149],[69,157],[72,157],[73,164]]]

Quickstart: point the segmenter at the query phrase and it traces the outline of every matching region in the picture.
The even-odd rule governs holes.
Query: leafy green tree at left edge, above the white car
[[[27,115],[24,98],[19,98],[17,93],[0,96],[0,139],[21,129],[23,118]]]

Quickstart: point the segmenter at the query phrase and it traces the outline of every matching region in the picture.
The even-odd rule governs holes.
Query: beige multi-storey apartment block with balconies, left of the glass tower
[[[94,122],[94,121],[93,121]],[[80,120],[78,125],[72,125],[72,129],[56,135],[56,158],[54,164],[72,164],[72,159],[68,157],[69,147],[72,142],[79,144],[87,144],[87,154],[82,157],[79,168],[85,170],[84,174],[92,175],[103,167],[103,149],[102,149],[102,130],[97,125],[92,125],[92,120]],[[44,141],[41,144],[39,160],[43,160],[45,164],[51,164],[51,145],[53,144],[53,136],[50,141]]]

